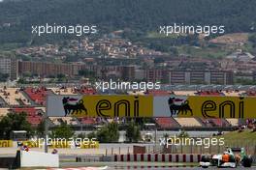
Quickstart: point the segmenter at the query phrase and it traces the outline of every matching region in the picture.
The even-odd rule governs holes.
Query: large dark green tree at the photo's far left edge
[[[26,120],[26,113],[8,113],[0,121],[0,139],[10,139],[12,130],[26,130],[27,137],[34,133],[31,125]]]

